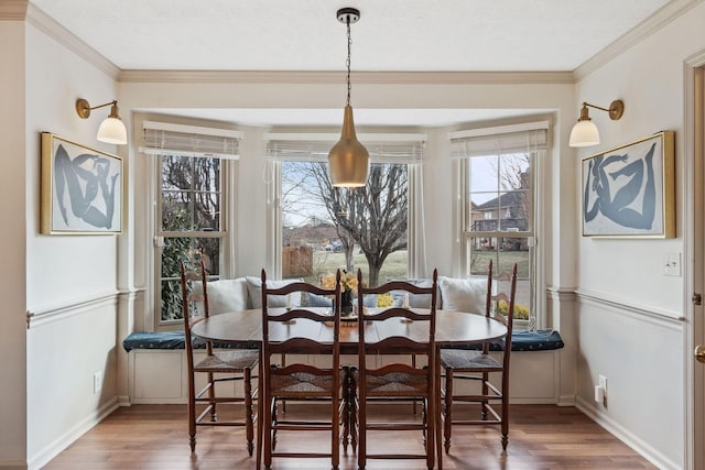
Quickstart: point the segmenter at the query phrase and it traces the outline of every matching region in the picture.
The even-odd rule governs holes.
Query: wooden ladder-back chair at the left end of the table
[[[208,283],[203,261],[196,264],[196,271],[187,271],[181,264],[181,293],[184,309],[184,342],[186,348],[186,363],[188,376],[188,442],[191,451],[196,450],[196,428],[198,426],[245,426],[247,449],[252,456],[254,438],[254,416],[252,401],[257,396],[257,389],[252,390],[252,370],[257,370],[259,351],[239,349],[218,349],[213,341],[205,341],[205,357],[200,349],[194,350],[194,339],[191,328],[210,316],[208,306]],[[198,298],[192,295],[193,283],[200,282]],[[203,315],[194,310],[192,303],[202,303]],[[228,315],[228,314],[221,314]],[[198,378],[198,389],[196,379]],[[200,386],[205,380],[205,385]],[[236,391],[236,384],[242,384],[241,395]],[[230,386],[226,387],[226,384]],[[245,416],[238,417],[228,414],[226,419],[218,416],[223,406],[232,405],[243,407]],[[223,414],[223,413],[220,413]]]

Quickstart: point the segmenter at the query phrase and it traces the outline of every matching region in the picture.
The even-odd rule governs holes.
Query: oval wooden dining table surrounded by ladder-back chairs
[[[276,314],[275,308],[270,308],[270,315]],[[282,313],[284,308],[279,309]],[[426,310],[427,311],[427,310]],[[368,311],[369,314],[369,311]],[[348,319],[349,321],[349,319]],[[340,352],[344,354],[357,354],[358,329],[352,324],[343,321],[340,327]],[[427,323],[400,323],[395,321],[373,321],[365,325],[366,340],[377,342],[390,336],[403,335],[408,337],[427,338]],[[196,324],[192,332],[199,338],[214,341],[216,343],[229,343],[260,347],[262,343],[262,310],[249,309],[213,315],[209,318]],[[470,343],[498,340],[507,335],[507,327],[484,315],[468,314],[453,310],[436,310],[436,348],[459,347]],[[317,341],[333,341],[332,323],[314,323],[308,320],[296,320],[290,324],[272,323],[270,326],[270,340],[284,340],[293,337],[306,337]],[[259,348],[260,351],[262,348]],[[397,351],[378,351],[380,354],[393,354]],[[436,353],[435,363],[435,419],[436,419],[436,461],[437,468],[443,468],[443,450],[440,445],[442,438],[442,404],[441,404],[441,364],[440,353]],[[262,367],[260,361],[260,368]],[[264,374],[260,370],[259,378]],[[260,385],[261,386],[261,385]],[[258,400],[258,416],[262,416],[262,401]],[[257,468],[261,462],[261,439],[262,426],[257,420]]]

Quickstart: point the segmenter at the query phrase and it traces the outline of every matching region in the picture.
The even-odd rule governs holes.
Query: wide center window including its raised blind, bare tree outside
[[[410,243],[414,184],[422,141],[369,142],[365,188],[334,188],[327,153],[334,141],[270,140],[279,176],[275,243],[281,275],[310,282],[337,267],[362,270],[370,284],[406,277],[415,256]],[[410,250],[411,248],[411,250]]]

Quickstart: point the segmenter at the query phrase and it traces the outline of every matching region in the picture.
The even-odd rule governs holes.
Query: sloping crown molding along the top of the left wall
[[[112,62],[108,61],[96,50],[78,39],[74,33],[58,24],[53,18],[31,3],[26,9],[26,20],[37,30],[42,31],[50,37],[53,37],[64,47],[93,64],[96,68],[102,70],[113,80],[118,79],[120,69]]]

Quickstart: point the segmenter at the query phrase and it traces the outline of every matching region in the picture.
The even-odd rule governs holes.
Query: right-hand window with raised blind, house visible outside
[[[527,125],[534,128],[534,124]],[[547,123],[457,132],[453,155],[462,168],[464,269],[469,276],[518,265],[514,317],[535,325],[542,300],[536,285],[536,167],[546,150]],[[536,129],[538,128],[538,129]]]

